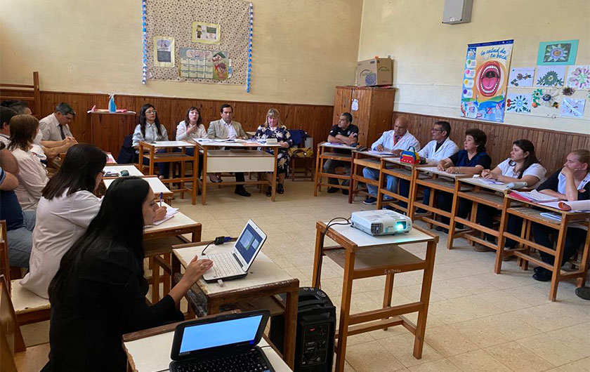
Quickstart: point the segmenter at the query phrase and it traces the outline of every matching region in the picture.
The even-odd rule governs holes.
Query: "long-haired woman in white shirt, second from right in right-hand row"
[[[535,154],[535,145],[530,140],[516,140],[512,142],[510,157],[491,171],[490,169],[484,169],[481,176],[488,180],[499,180],[504,183],[525,182],[525,187],[537,187],[545,180],[545,173],[545,168],[539,163],[539,159]],[[499,211],[496,208],[480,204],[478,206],[477,222],[482,226],[492,228],[494,216],[498,213]],[[522,225],[522,218],[511,215],[506,230],[512,234],[520,235]],[[492,243],[495,241],[495,238],[490,234],[485,234],[485,239]],[[504,245],[506,248],[514,248],[516,247],[516,241],[506,239]],[[493,251],[492,248],[482,245],[476,245],[474,249],[478,252]]]

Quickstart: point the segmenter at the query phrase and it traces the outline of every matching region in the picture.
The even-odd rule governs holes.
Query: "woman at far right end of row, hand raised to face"
[[[581,149],[570,152],[565,164],[563,164],[563,168],[553,173],[551,177],[537,187],[537,191],[566,201],[590,199],[590,151]],[[538,223],[533,223],[531,228],[535,242],[553,248],[551,235],[556,235],[555,229]],[[584,229],[568,227],[568,232],[565,234],[561,266],[567,263],[572,258],[572,255],[576,253],[577,248],[584,244],[586,234],[587,232]],[[543,251],[539,251],[539,254],[544,263],[553,265],[555,256]],[[551,280],[551,271],[542,266],[537,266],[534,270],[533,279],[538,281]]]

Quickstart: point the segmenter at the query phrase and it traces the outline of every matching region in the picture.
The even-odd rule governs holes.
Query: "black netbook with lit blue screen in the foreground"
[[[218,315],[176,326],[171,372],[274,372],[260,342],[270,312]]]

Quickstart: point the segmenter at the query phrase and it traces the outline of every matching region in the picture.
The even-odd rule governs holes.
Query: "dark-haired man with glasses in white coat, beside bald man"
[[[432,129],[432,140],[428,142],[422,150],[418,152],[420,159],[426,159],[428,164],[437,164],[442,159],[447,159],[455,152],[459,151],[459,147],[453,142],[449,135],[451,134],[451,124],[447,121],[437,121]],[[430,187],[424,188],[424,204],[428,204],[430,201]],[[409,182],[407,180],[400,181],[400,194],[407,197],[409,195]],[[400,201],[402,206],[405,206],[405,202]],[[421,210],[417,211],[423,212]]]

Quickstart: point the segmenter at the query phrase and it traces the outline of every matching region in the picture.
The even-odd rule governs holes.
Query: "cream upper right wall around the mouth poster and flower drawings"
[[[590,64],[588,0],[474,0],[471,22],[459,25],[442,24],[444,4],[445,0],[363,4],[358,58],[391,55],[393,86],[398,89],[395,111],[460,117],[469,43],[514,39],[511,67],[532,67],[540,41],[579,39],[576,64]],[[586,98],[586,93],[577,94]],[[506,113],[505,123],[590,133],[589,100],[585,111],[585,119]]]

